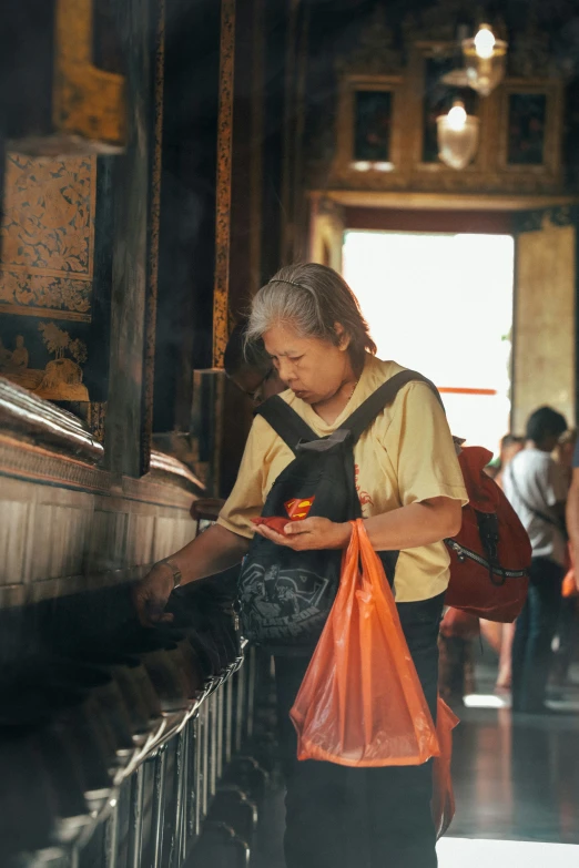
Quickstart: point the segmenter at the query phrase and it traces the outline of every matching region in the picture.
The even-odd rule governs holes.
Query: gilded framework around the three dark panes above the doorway
[[[409,42],[407,60],[393,52],[389,31],[383,28],[380,44],[372,35],[372,52],[364,42],[359,52],[338,67],[338,104],[335,152],[329,176],[319,161],[312,162],[311,190],[338,193],[352,191],[364,196],[406,192],[407,195],[479,194],[560,196],[562,190],[562,78],[509,78],[490,96],[479,98],[476,114],[480,137],[474,161],[456,171],[440,162],[427,163],[424,152],[425,88],[429,58],[454,58],[460,68],[457,45],[448,39]],[[379,41],[378,40],[378,41]],[[368,43],[369,44],[369,43]],[[359,57],[358,57],[359,54]],[[368,55],[368,57],[367,57]],[[370,63],[374,60],[375,63]],[[449,85],[451,88],[451,85]],[[354,94],[356,90],[390,90],[393,171],[357,172],[353,167]],[[457,95],[463,88],[456,85]],[[465,88],[465,93],[469,93]],[[514,93],[540,93],[547,98],[545,161],[542,165],[510,165],[507,162],[508,106]]]

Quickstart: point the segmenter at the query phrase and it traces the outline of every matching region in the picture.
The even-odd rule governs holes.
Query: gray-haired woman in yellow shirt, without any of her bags
[[[402,324],[394,324],[399,328]],[[403,368],[375,357],[358,303],[331,268],[282,268],[255,296],[248,337],[261,339],[287,384],[281,396],[318,436],[337,430]],[[273,483],[294,455],[257,416],[237,482],[217,523],[158,564],[135,588],[143,622],[162,620],[173,588],[240,562],[255,532],[295,551],[345,549],[351,524],[323,515],[292,522],[282,535],[255,529]],[[444,411],[430,388],[409,382],[378,413],[354,448],[356,490],[369,540],[399,552],[394,593],[426,698],[436,713],[438,625],[449,578],[443,540],[460,528],[467,496]],[[288,712],[308,655],[275,658],[281,747],[286,775],[285,858],[288,868],[433,868],[430,763],[346,768],[298,762]]]

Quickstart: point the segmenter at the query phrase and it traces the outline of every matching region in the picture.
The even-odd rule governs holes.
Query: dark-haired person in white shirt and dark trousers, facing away
[[[563,532],[567,481],[551,452],[567,430],[565,417],[550,407],[527,422],[527,443],[505,471],[505,493],[532,547],[529,593],[517,619],[512,643],[512,709],[542,713],[552,664],[551,643],[561,604],[567,561]]]

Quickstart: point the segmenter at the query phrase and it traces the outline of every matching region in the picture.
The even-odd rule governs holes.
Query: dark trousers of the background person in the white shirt
[[[512,709],[540,711],[551,667],[551,643],[561,606],[565,570],[548,558],[534,558],[529,593],[517,619],[512,643]]]

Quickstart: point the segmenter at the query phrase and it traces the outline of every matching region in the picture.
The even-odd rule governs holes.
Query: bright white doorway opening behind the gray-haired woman
[[[498,450],[510,422],[509,235],[346,232],[344,277],[378,356],[441,389],[453,433]]]

